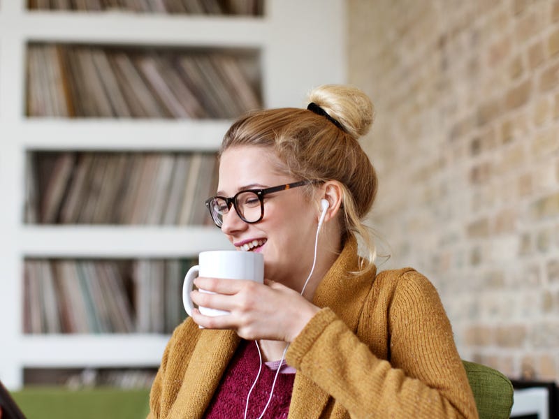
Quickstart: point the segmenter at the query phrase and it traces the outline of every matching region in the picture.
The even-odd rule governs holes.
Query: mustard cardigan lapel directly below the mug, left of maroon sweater
[[[240,337],[233,330],[201,332],[177,395],[177,409],[173,409],[170,417],[203,416],[239,342]]]

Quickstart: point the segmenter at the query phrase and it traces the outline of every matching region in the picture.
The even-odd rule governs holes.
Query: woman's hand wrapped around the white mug
[[[194,309],[194,322],[207,329],[235,330],[243,339],[291,342],[320,310],[297,291],[268,279],[259,284],[240,279],[198,277],[194,284],[215,293],[192,291],[195,304],[230,312],[222,316],[204,316]]]

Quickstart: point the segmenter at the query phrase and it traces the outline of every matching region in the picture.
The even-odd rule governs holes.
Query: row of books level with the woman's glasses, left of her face
[[[215,153],[30,152],[27,223],[212,225]]]

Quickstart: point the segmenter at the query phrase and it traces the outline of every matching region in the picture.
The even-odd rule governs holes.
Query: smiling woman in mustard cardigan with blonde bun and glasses
[[[412,269],[373,264],[361,219],[377,178],[357,142],[372,103],[337,85],[310,102],[245,115],[226,133],[207,204],[238,250],[263,253],[265,284],[196,279],[215,294],[192,300],[231,314],[194,311],[175,330],[150,416],[476,418],[435,288]]]

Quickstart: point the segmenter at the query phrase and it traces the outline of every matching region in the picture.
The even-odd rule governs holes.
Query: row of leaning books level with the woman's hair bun
[[[30,44],[31,117],[219,118],[261,108],[254,54]]]

